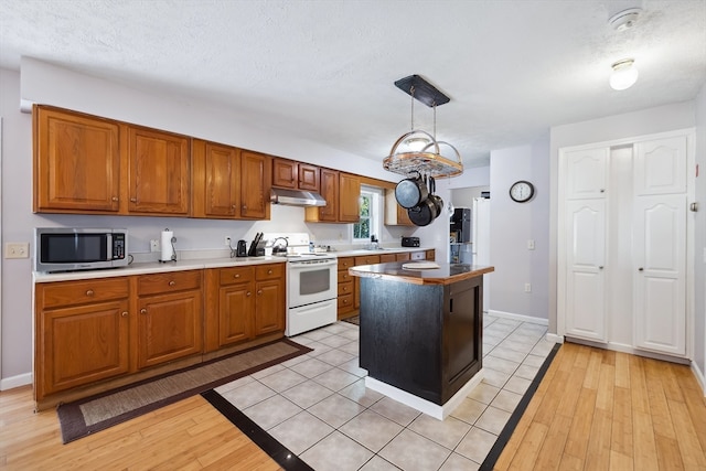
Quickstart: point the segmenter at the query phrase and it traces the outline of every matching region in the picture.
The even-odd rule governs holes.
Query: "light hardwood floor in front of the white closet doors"
[[[706,470],[706,400],[688,366],[566,343],[496,470]]]

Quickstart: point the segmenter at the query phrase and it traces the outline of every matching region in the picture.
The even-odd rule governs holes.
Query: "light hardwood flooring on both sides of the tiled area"
[[[0,469],[277,470],[201,396],[62,445],[32,390],[0,393]],[[706,470],[706,400],[687,366],[567,343],[498,470]]]

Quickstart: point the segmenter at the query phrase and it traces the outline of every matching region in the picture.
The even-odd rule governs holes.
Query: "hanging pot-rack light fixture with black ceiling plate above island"
[[[437,106],[450,98],[419,75],[395,82],[395,86],[411,97],[411,130],[395,141],[383,167],[391,172],[409,175],[420,172],[429,176],[454,176],[463,172],[461,156],[453,146],[438,141]],[[434,108],[434,135],[415,129],[415,99]]]

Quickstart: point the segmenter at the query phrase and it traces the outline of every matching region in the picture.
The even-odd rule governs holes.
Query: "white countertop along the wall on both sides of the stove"
[[[382,248],[378,250],[352,249],[352,250],[334,250],[327,254],[334,257],[355,257],[361,255],[381,255],[381,254],[398,254],[404,251],[424,251],[434,247],[394,247]],[[105,270],[83,270],[67,271],[57,274],[47,274],[43,271],[34,271],[32,274],[34,282],[54,282],[68,280],[86,280],[96,278],[125,277],[131,275],[149,275],[168,271],[199,270],[204,268],[226,268],[242,267],[248,265],[263,264],[285,264],[287,257],[221,257],[221,258],[192,258],[176,261],[147,261],[133,263],[127,267],[109,268]]]

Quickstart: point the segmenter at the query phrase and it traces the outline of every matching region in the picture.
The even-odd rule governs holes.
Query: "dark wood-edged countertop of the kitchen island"
[[[484,265],[437,264],[439,268],[405,269],[403,265],[414,261],[391,261],[389,264],[360,265],[349,268],[355,277],[368,277],[402,281],[414,285],[451,285],[495,271],[495,267]]]

